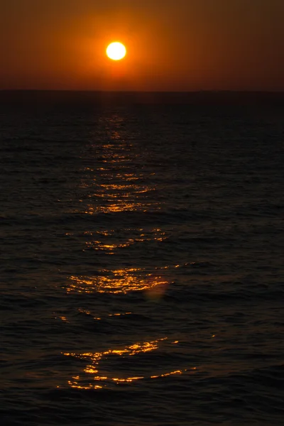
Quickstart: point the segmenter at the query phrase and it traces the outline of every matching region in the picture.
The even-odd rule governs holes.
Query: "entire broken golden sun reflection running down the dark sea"
[[[76,213],[89,214],[119,214],[121,212],[157,212],[163,202],[155,197],[155,180],[148,179],[147,168],[143,167],[145,156],[143,150],[133,150],[130,142],[136,136],[126,132],[126,119],[120,116],[111,116],[102,119],[102,129],[106,134],[104,138],[108,143],[90,146],[94,165],[84,167],[80,188],[85,197],[82,197],[82,209]],[[127,133],[127,134],[126,134]],[[131,139],[132,138],[132,139]],[[96,138],[94,139],[96,140]],[[151,173],[155,175],[155,173]],[[153,176],[151,176],[153,178]],[[115,218],[115,216],[114,216]],[[115,219],[114,219],[114,222]],[[66,234],[67,235],[67,234]],[[72,236],[72,234],[68,234]],[[76,238],[76,235],[73,234]],[[146,243],[149,248],[168,239],[168,234],[158,227],[127,227],[114,229],[92,229],[83,232],[84,249],[102,251],[105,254],[116,254],[127,247]],[[100,254],[100,253],[98,253]],[[162,268],[150,266],[142,268],[133,264],[132,267],[101,268],[94,273],[77,275],[73,273],[68,277],[67,293],[109,293],[114,295],[127,294],[133,291],[144,292],[148,299],[159,300],[163,297],[168,285],[173,282],[170,271],[178,266],[165,266]],[[89,310],[79,308],[83,315],[92,317],[93,321],[101,321],[101,315],[92,314]],[[121,317],[131,315],[133,312],[104,313],[104,317]],[[68,322],[66,317],[60,317],[63,322]],[[143,339],[143,337],[142,337]],[[136,342],[127,346],[103,349],[102,351],[65,352],[64,356],[82,361],[84,367],[80,374],[72,376],[68,386],[77,389],[102,389],[119,384],[130,384],[141,380],[154,380],[182,373],[193,373],[195,367],[180,369],[157,366],[155,356],[153,361],[143,354],[153,351],[162,351],[165,354],[166,344],[178,344],[177,340],[169,342],[168,337],[161,339]],[[106,346],[104,346],[106,347]],[[168,348],[167,350],[170,350]],[[121,371],[121,359],[127,365]],[[143,365],[143,360],[146,364]]]

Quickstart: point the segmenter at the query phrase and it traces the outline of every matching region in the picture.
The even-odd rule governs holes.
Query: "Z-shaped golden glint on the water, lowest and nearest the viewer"
[[[106,370],[100,368],[100,364],[102,363],[103,359],[106,362],[108,359],[111,359],[111,365],[113,365],[114,361],[119,361],[119,358],[121,357],[125,359],[126,357],[136,356],[138,354],[145,354],[147,352],[155,351],[159,349],[159,345],[167,339],[168,337],[163,337],[162,339],[156,339],[151,342],[138,342],[130,346],[124,346],[124,348],[122,349],[107,349],[107,351],[100,351],[94,353],[64,353],[63,355],[65,356],[71,356],[72,358],[77,358],[81,361],[87,362],[83,370],[84,376],[73,376],[72,380],[68,381],[68,385],[71,388],[77,389],[102,389],[104,387],[109,386],[111,383],[118,385],[120,383],[133,383],[142,379],[163,378],[176,374],[182,374],[185,372],[194,373],[196,367],[185,368],[183,370],[177,369],[173,371],[165,371],[163,373],[159,372],[150,376],[143,376],[139,373],[133,376],[129,376],[128,374],[125,374],[124,376],[117,376],[116,373],[107,372]],[[178,344],[178,341],[170,342],[170,344]],[[135,369],[137,369],[137,367]],[[92,382],[90,382],[89,379],[90,375],[92,376]]]

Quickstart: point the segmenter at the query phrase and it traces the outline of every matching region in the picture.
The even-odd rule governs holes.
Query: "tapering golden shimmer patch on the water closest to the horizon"
[[[80,187],[89,190],[89,200],[85,200],[81,214],[148,212],[161,208],[153,197],[155,185],[146,184],[145,159],[141,153],[133,153],[131,135],[124,124],[121,116],[102,119],[108,143],[92,146],[97,167],[88,165],[82,170]]]

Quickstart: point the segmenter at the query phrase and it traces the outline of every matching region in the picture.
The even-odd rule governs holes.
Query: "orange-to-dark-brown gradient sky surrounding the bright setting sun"
[[[283,17],[284,0],[0,0],[0,89],[284,90]]]

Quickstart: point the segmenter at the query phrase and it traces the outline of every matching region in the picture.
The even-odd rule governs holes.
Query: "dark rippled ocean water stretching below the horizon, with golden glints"
[[[284,425],[284,95],[0,94],[3,426]]]

